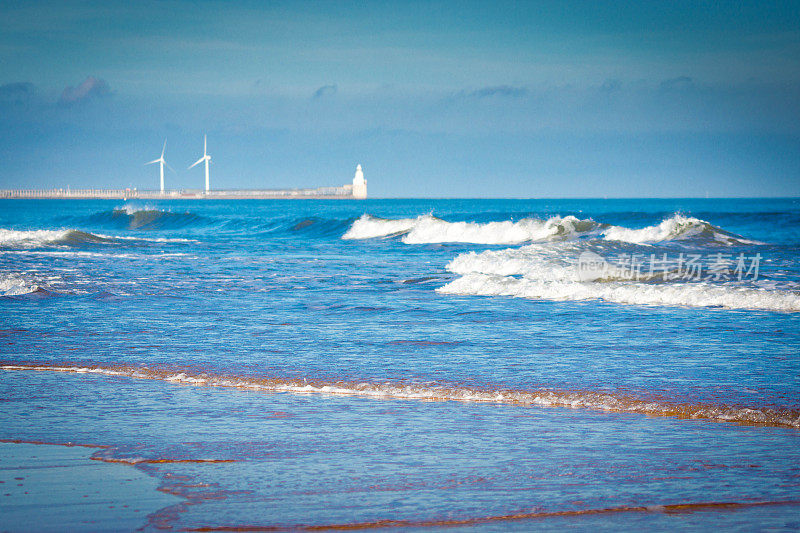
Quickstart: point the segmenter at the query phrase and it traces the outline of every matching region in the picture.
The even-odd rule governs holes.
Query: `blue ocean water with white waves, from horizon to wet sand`
[[[800,200],[0,202],[0,439],[149,529],[800,528]]]

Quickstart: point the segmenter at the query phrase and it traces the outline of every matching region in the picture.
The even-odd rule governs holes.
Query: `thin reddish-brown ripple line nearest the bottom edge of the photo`
[[[547,518],[573,518],[594,515],[610,515],[621,513],[694,513],[701,511],[731,511],[754,507],[769,507],[780,505],[800,505],[800,500],[783,500],[767,502],[699,502],[678,503],[668,505],[648,506],[623,506],[608,507],[605,509],[584,509],[580,511],[531,511],[496,516],[481,516],[476,518],[456,518],[442,520],[375,520],[372,522],[353,522],[349,524],[322,524],[298,526],[219,526],[186,528],[184,531],[358,531],[362,529],[385,529],[395,527],[457,527],[475,526],[492,522],[510,522],[515,520],[542,520]]]

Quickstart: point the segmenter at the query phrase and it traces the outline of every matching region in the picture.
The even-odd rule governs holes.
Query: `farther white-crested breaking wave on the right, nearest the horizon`
[[[402,236],[406,244],[474,243],[523,244],[572,241],[596,237],[607,241],[653,244],[667,241],[700,241],[704,244],[759,244],[727,232],[705,220],[674,214],[655,226],[630,229],[579,219],[572,215],[547,220],[524,218],[500,222],[447,222],[433,215],[384,219],[362,215],[343,239],[374,239]]]

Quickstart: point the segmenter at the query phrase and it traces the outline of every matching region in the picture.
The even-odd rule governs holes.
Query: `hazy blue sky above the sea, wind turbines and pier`
[[[798,2],[0,1],[0,187],[800,196]]]

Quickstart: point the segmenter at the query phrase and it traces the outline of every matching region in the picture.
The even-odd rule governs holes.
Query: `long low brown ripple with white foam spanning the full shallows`
[[[748,407],[712,403],[686,403],[656,395],[608,393],[590,390],[491,389],[457,385],[426,386],[403,382],[353,382],[298,380],[276,377],[230,376],[198,373],[190,368],[147,368],[124,365],[85,365],[64,362],[2,363],[3,370],[38,370],[78,374],[152,379],[171,383],[212,387],[291,392],[297,394],[330,394],[380,399],[417,401],[485,402],[508,405],[571,407],[596,411],[638,413],[683,420],[711,420],[741,425],[789,427],[800,429],[800,409],[796,407]]]

